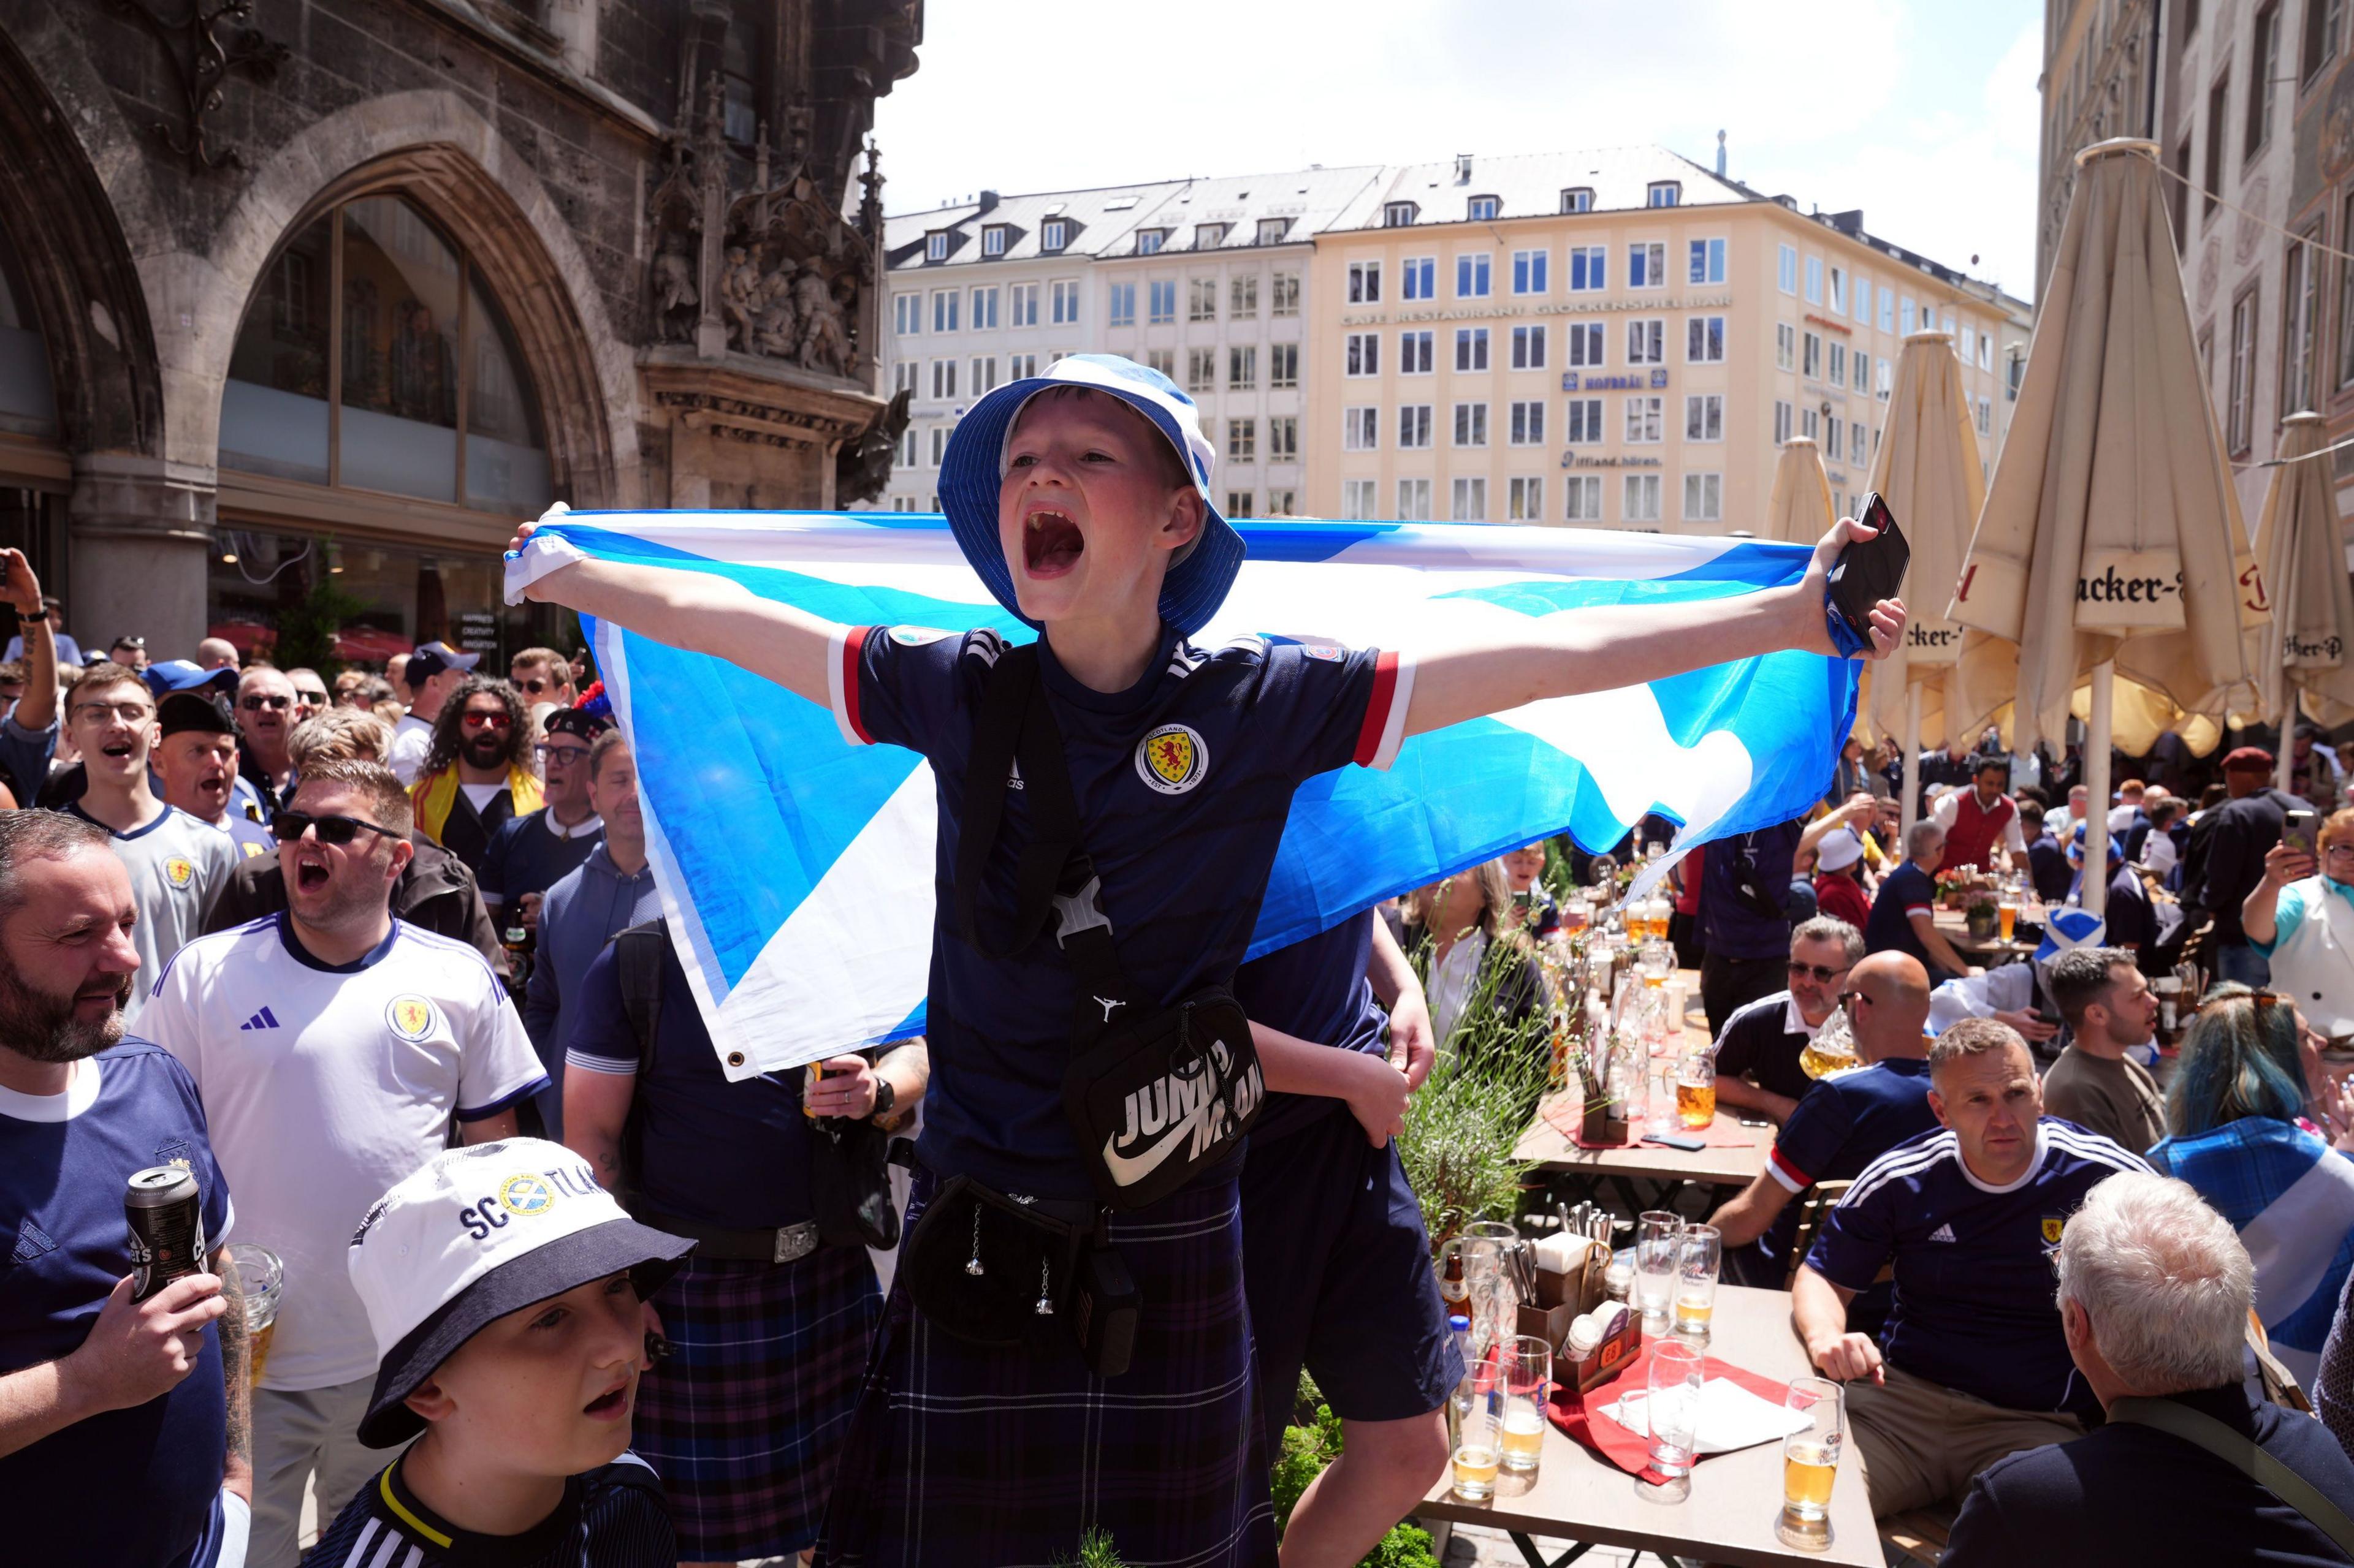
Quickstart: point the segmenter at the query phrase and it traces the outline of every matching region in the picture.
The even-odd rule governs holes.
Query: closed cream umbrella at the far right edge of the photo
[[[2295,702],[2326,725],[2354,718],[2354,584],[2347,582],[2345,544],[2338,527],[2338,494],[2326,461],[2321,414],[2281,421],[2279,466],[2265,490],[2265,516],[2255,525],[2255,558],[2272,591],[2272,622],[2257,643],[2257,678],[2265,713],[2281,716],[2279,779],[2288,789],[2295,746]]]

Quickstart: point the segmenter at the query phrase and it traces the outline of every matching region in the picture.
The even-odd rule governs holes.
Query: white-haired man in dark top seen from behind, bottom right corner
[[[2060,1316],[2109,1424],[1987,1467],[1954,1521],[1947,1568],[2345,1563],[2276,1486],[2185,1429],[2260,1453],[2354,1514],[2354,1462],[2328,1427],[2248,1398],[2253,1300],[2239,1234],[2185,1182],[2116,1175],[2095,1187],[2060,1241]]]

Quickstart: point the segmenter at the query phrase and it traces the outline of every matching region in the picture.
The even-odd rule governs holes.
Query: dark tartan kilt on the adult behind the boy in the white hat
[[[789,1264],[690,1255],[654,1293],[673,1354],[638,1380],[631,1448],[661,1476],[680,1561],[817,1540],[878,1307],[864,1248]]]

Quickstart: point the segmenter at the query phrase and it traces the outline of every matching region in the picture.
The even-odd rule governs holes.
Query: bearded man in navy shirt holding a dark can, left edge
[[[0,1497],[9,1561],[210,1568],[245,1556],[245,1304],[228,1182],[186,1069],[122,1034],[139,970],[106,833],[0,812]],[[179,1163],[207,1274],[132,1300],[122,1184]]]

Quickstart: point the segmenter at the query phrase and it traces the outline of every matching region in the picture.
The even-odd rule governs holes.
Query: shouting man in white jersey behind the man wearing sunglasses
[[[137,1022],[148,982],[205,930],[205,916],[238,864],[238,850],[207,822],[155,798],[148,753],[158,742],[155,702],[120,664],[99,664],[66,690],[66,737],[82,753],[82,798],[66,810],[113,838],[139,902],[141,977],[122,1008]]]

